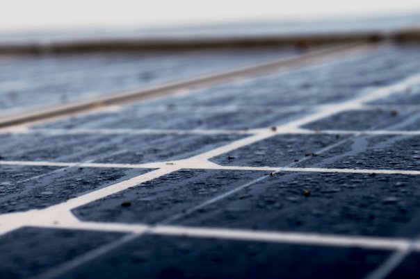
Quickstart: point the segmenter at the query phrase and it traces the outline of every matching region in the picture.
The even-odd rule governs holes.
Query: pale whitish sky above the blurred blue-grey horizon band
[[[420,0],[0,0],[0,4],[1,31],[150,27],[420,11]]]

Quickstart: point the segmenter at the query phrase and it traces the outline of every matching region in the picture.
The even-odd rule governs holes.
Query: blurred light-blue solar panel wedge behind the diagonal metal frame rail
[[[292,48],[77,53],[0,59],[0,117],[295,55]]]

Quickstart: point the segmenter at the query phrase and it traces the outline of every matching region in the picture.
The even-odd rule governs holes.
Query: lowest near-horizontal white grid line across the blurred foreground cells
[[[410,246],[410,241],[404,238],[328,235],[319,233],[290,233],[270,230],[243,230],[232,228],[210,228],[194,226],[147,226],[144,224],[131,223],[79,222],[72,223],[72,226],[68,226],[67,224],[57,224],[50,226],[41,225],[41,227],[79,230],[100,230],[135,234],[150,233],[154,235],[237,239],[286,244],[374,248],[380,250],[383,249],[396,251],[405,250],[408,246]],[[419,251],[420,242],[415,242],[415,244],[416,245],[413,247],[413,249],[415,251]]]

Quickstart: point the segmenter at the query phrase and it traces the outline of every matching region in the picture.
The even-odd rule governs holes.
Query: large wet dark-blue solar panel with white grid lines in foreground
[[[0,277],[416,277],[419,53],[1,130]]]

